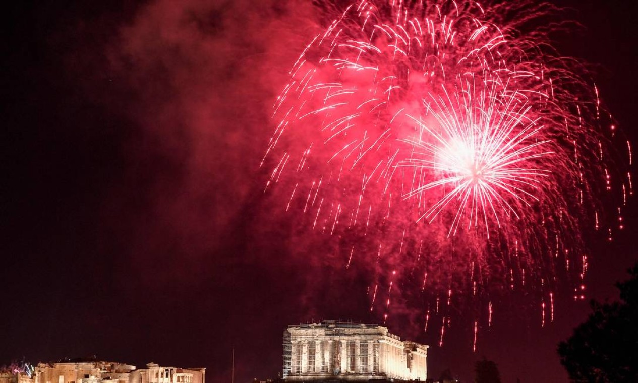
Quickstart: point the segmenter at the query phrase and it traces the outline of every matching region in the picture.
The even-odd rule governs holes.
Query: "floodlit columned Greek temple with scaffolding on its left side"
[[[284,331],[286,380],[427,379],[427,347],[377,324],[323,321]]]

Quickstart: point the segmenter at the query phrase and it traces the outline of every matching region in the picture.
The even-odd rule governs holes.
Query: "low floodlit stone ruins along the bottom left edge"
[[[147,368],[105,361],[38,363],[33,373],[0,375],[0,383],[205,383],[205,368]]]

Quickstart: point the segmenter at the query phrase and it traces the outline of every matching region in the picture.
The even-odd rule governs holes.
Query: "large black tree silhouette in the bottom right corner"
[[[558,345],[572,382],[638,382],[638,263],[619,282],[620,302],[592,300],[592,313]]]

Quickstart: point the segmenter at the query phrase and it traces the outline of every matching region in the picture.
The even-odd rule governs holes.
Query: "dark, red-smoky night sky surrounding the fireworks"
[[[299,228],[262,194],[269,110],[315,10],[178,3],[16,2],[3,12],[0,364],[96,354],[205,366],[209,382],[227,382],[234,347],[235,377],[248,381],[281,370],[287,324],[381,320],[364,271],[297,251]],[[557,4],[583,25],[557,47],[592,64],[638,142],[637,3]],[[614,282],[638,259],[635,206],[614,242],[593,241],[588,297],[615,299]],[[485,356],[504,382],[562,382],[556,344],[588,306],[557,300],[545,328],[537,308],[496,311],[476,354],[468,324],[443,347],[420,324],[387,325],[432,345],[432,377],[450,368],[471,381]]]

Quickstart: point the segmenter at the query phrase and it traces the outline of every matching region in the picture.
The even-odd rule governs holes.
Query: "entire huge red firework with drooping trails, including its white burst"
[[[611,240],[621,226],[602,215],[602,192],[626,198],[632,185],[613,170],[617,128],[598,88],[554,52],[546,29],[530,30],[551,6],[318,7],[332,21],[290,70],[262,164],[286,210],[352,238],[358,264],[386,273],[372,282],[371,310],[396,268],[420,276],[415,291],[437,297],[436,315],[439,294],[449,306],[453,290],[477,296],[501,285],[487,280],[554,291],[558,257],[582,262],[571,268],[582,280],[581,233],[601,227]],[[490,301],[488,329],[491,316]]]

